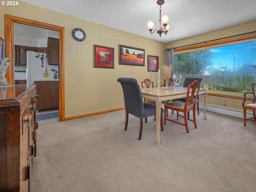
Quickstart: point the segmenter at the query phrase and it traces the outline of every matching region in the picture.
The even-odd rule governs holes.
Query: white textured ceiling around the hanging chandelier
[[[170,30],[150,34],[146,22],[159,28],[156,0],[20,0],[161,42],[170,42],[256,19],[256,0],[165,0],[162,14]],[[80,26],[77,26],[80,27]],[[86,29],[84,28],[86,31]]]

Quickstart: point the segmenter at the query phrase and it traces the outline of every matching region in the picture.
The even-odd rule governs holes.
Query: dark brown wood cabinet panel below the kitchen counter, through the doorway
[[[39,95],[38,110],[59,107],[59,81],[35,81],[35,85]]]

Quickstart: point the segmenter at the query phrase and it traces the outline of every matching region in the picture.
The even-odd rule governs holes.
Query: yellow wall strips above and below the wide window
[[[190,44],[196,44],[199,42],[207,42],[210,40],[226,38],[229,36],[235,36],[239,34],[245,34],[248,32],[255,32],[256,31],[256,20],[245,22],[242,24],[238,24],[235,26],[230,26],[227,28],[223,28],[220,30],[215,30],[212,32],[192,36],[189,38],[184,38],[181,40],[176,40],[173,42],[166,43],[165,47],[180,47],[186,46]],[[223,105],[223,101],[226,101],[226,106]],[[204,102],[204,98],[200,97],[200,102]],[[241,99],[231,99],[231,98],[223,98],[223,97],[216,97],[216,96],[208,96],[207,97],[207,104],[221,106],[225,108],[232,108],[237,110],[242,110],[242,100]]]

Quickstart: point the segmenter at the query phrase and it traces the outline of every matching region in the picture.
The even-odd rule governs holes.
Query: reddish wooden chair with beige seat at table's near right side
[[[191,96],[189,96],[191,90]],[[187,90],[186,95],[186,102],[182,101],[173,101],[168,102],[164,104],[164,124],[166,125],[166,120],[184,125],[186,127],[186,131],[189,133],[188,130],[188,121],[190,120],[194,122],[195,128],[196,126],[196,99],[198,97],[198,92],[200,90],[200,84],[198,81],[193,81],[189,86]],[[166,109],[177,111],[177,118],[176,119],[167,119],[166,118]],[[187,112],[193,111],[193,120],[187,117]],[[179,112],[183,112],[183,116],[179,114]],[[184,118],[184,123],[179,122],[178,120]]]

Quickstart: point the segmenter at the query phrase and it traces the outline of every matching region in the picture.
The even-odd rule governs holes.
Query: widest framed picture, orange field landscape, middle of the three
[[[119,64],[145,66],[145,50],[119,45]]]

